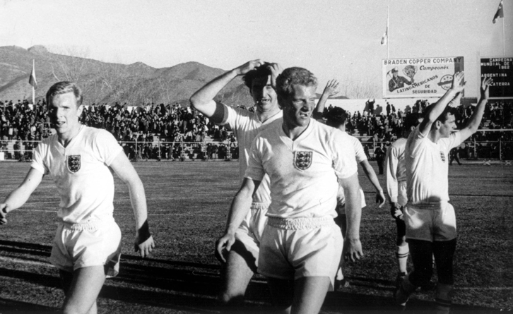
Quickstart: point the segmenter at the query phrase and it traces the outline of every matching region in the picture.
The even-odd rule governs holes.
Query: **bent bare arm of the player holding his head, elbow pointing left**
[[[201,87],[189,99],[191,106],[200,111],[202,114],[211,119],[213,123],[221,123],[223,121],[224,109],[223,105],[213,102],[214,97],[237,76],[243,76],[249,71],[261,66],[263,62],[260,59],[248,61],[242,66],[228,71],[217,78],[214,78],[204,87]]]

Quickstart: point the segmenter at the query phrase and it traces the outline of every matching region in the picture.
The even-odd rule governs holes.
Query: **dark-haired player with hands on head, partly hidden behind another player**
[[[259,131],[268,128],[273,121],[282,117],[276,96],[276,77],[281,73],[279,64],[266,63],[260,59],[248,61],[201,87],[192,95],[191,107],[201,112],[214,123],[229,126],[239,143],[239,177],[244,179],[249,149]],[[220,90],[235,78],[242,76],[249,88],[255,111],[228,106],[214,100]],[[260,187],[248,205],[249,212],[242,224],[237,226],[230,245],[216,250],[216,258],[222,264],[222,287],[218,296],[221,303],[241,302],[259,263],[261,234],[267,222],[267,207],[271,203],[269,177],[264,176]]]

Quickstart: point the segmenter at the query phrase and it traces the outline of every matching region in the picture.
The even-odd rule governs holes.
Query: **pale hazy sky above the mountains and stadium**
[[[308,68],[327,80],[377,85],[381,60],[464,56],[467,96],[477,56],[513,56],[513,0],[0,0],[0,45],[42,44],[156,68],[198,61],[228,70],[250,59]],[[379,44],[387,28],[389,46]],[[0,56],[1,61],[1,56]],[[319,87],[321,90],[322,86]]]

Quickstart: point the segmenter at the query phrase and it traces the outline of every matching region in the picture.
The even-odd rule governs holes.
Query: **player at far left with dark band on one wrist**
[[[155,247],[148,228],[141,179],[114,136],[83,126],[83,96],[71,82],[49,88],[47,106],[56,134],[37,145],[25,180],[0,205],[6,214],[23,206],[49,174],[61,198],[50,262],[59,269],[66,298],[63,313],[97,313],[96,298],[106,277],[119,272],[121,231],[114,222],[114,178],[129,187],[136,221],[135,249],[141,257]]]

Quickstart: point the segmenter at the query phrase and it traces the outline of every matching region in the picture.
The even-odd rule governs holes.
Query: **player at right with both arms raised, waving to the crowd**
[[[456,250],[456,215],[449,203],[449,151],[476,133],[492,83],[491,78],[483,78],[476,109],[466,126],[457,131],[456,109],[447,104],[463,92],[465,81],[463,72],[455,73],[451,88],[426,109],[423,121],[408,136],[405,151],[408,204],[404,220],[414,270],[394,294],[401,306],[406,306],[418,286],[430,281],[434,255],[438,274],[437,313],[449,313]]]

